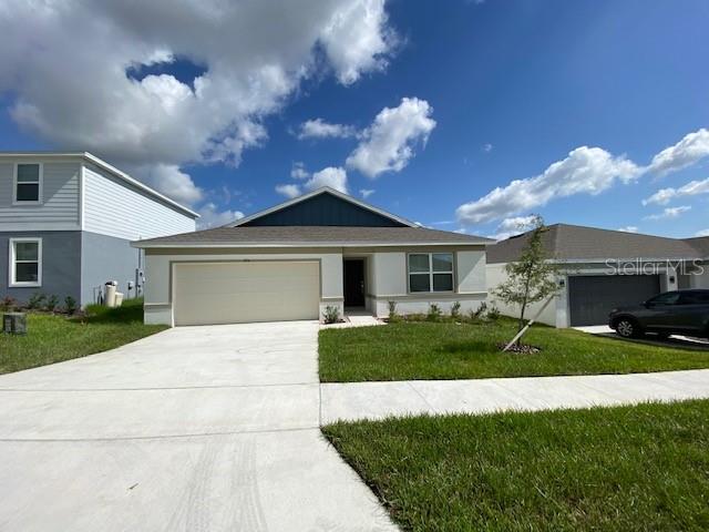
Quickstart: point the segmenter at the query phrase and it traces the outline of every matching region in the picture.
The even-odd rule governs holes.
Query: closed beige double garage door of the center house
[[[175,325],[318,319],[319,301],[318,263],[175,265]]]

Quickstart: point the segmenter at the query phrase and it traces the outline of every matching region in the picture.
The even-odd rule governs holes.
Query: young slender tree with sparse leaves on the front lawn
[[[506,305],[520,307],[517,332],[524,328],[527,307],[552,297],[558,290],[555,278],[556,266],[548,262],[551,257],[542,242],[544,233],[548,229],[541,216],[535,216],[532,225],[532,231],[521,237],[526,238],[527,242],[520,257],[505,266],[507,280],[492,290]]]

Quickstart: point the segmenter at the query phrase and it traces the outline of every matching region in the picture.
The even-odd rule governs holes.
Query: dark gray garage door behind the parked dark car
[[[619,306],[638,305],[660,291],[659,275],[578,275],[568,277],[573,327],[605,325]]]

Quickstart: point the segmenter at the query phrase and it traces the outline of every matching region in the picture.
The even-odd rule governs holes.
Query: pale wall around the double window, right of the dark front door
[[[389,301],[397,303],[397,313],[422,314],[431,304],[439,305],[450,313],[451,305],[460,301],[461,311],[476,309],[486,297],[485,250],[484,247],[466,248],[392,248],[368,250],[367,304],[378,317],[389,315]],[[454,254],[453,293],[409,293],[407,267],[408,253],[451,252]],[[357,253],[349,250],[348,253]]]

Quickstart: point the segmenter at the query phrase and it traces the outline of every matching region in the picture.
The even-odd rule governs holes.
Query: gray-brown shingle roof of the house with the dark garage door
[[[489,247],[487,263],[516,260],[528,235],[530,233],[523,233]],[[667,238],[567,224],[548,226],[542,242],[549,257],[556,260],[679,259],[709,256],[709,237]]]

